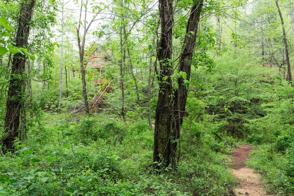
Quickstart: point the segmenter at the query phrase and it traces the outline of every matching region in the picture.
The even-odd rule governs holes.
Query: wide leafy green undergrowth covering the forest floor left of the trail
[[[229,195],[234,182],[230,148],[209,123],[184,124],[181,160],[162,170],[149,166],[146,120],[46,113],[30,123],[27,142],[0,157],[0,195]]]

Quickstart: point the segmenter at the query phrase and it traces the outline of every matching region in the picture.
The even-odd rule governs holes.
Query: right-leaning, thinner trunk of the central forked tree
[[[191,75],[191,64],[192,64],[192,57],[193,57],[193,51],[196,44],[196,36],[197,36],[197,30],[198,30],[198,24],[199,24],[199,18],[201,9],[203,6],[203,0],[196,1],[195,4],[193,4],[191,8],[190,18],[188,20],[188,24],[186,27],[186,36],[184,38],[183,42],[183,53],[180,57],[180,66],[179,66],[179,72],[185,72],[186,73],[186,79],[183,77],[178,78],[178,84],[179,88],[174,93],[174,116],[175,116],[175,127],[176,130],[173,132],[173,140],[175,142],[173,143],[173,151],[176,152],[177,150],[177,143],[180,142],[180,130],[183,123],[183,118],[185,115],[185,108],[186,108],[186,101],[188,97],[188,86]],[[193,33],[192,33],[193,32]],[[187,80],[186,83],[184,80]],[[179,147],[180,147],[179,143]],[[178,158],[180,156],[180,150],[178,154]]]

